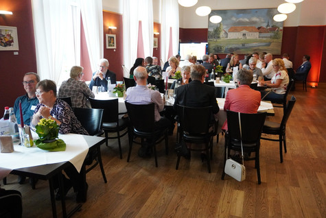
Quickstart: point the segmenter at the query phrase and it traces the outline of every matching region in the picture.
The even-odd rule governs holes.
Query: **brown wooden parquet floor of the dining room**
[[[200,154],[181,159],[176,170],[175,134],[170,136],[170,154],[158,146],[159,167],[154,158],[139,158],[138,146],[126,162],[128,140],[123,138],[124,158],[119,159],[117,141],[102,146],[102,158],[108,183],[100,168],[86,175],[88,200],[73,217],[326,217],[326,84],[308,88],[297,84],[290,95],[296,104],[287,125],[288,153],[279,162],[279,143],[261,141],[261,184],[257,184],[254,162],[247,161],[246,180],[237,182],[226,175],[221,180],[224,160],[224,136],[215,144],[212,173]],[[289,95],[289,98],[290,98]],[[282,108],[275,108],[281,120]],[[216,142],[216,138],[214,138]],[[15,175],[1,187],[23,194],[23,217],[51,217],[48,182],[39,181],[36,190],[30,184],[19,185]],[[75,206],[75,194],[67,195],[68,210]],[[60,215],[60,203],[57,204]]]

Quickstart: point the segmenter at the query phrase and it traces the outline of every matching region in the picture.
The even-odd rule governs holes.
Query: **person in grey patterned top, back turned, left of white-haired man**
[[[95,97],[94,93],[82,81],[82,66],[73,66],[70,70],[69,80],[62,82],[59,88],[59,97],[71,97],[71,106],[73,108],[91,108],[86,105],[89,97]]]

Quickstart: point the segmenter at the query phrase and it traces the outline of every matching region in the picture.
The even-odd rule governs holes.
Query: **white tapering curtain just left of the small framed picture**
[[[102,0],[80,0],[80,10],[89,60],[92,72],[94,72],[97,69],[98,60],[104,56]]]

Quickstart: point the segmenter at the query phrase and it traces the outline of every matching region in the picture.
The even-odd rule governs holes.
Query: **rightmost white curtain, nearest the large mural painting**
[[[178,53],[179,46],[179,8],[176,0],[162,0],[161,8],[161,59],[166,62],[169,47],[172,43],[172,53]],[[172,42],[170,42],[170,27],[172,27]]]

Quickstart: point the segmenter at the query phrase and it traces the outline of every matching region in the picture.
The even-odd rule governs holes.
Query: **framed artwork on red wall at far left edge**
[[[17,27],[0,26],[0,51],[18,51]]]

